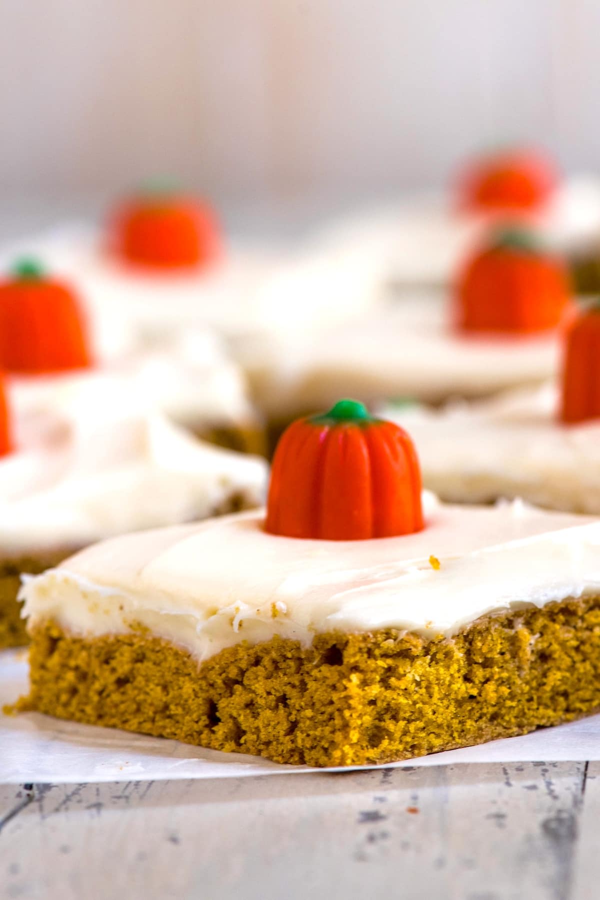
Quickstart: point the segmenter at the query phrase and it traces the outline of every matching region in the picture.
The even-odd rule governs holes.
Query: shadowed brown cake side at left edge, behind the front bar
[[[21,618],[22,604],[17,600],[22,574],[39,575],[57,566],[73,552],[70,548],[0,559],[0,649],[21,647],[29,641],[26,623]]]

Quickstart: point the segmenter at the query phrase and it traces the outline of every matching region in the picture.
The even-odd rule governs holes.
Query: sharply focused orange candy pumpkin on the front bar
[[[273,458],[265,528],[328,541],[420,531],[421,473],[410,437],[350,400],[294,422]]]

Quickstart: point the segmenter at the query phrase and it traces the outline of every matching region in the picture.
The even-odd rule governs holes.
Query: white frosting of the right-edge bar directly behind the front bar
[[[390,404],[378,413],[407,428],[425,486],[444,500],[523,497],[600,515],[600,421],[565,426],[558,407],[548,383],[444,410]]]

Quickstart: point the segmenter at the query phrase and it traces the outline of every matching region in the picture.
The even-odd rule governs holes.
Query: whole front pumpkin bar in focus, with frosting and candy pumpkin
[[[407,433],[295,423],[266,511],[94,545],[22,590],[18,709],[283,763],[385,763],[600,707],[600,522],[422,496]]]

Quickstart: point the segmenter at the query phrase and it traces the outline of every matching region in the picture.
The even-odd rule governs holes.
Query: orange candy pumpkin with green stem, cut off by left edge
[[[0,283],[0,366],[49,374],[92,365],[84,313],[67,284],[24,259]]]

